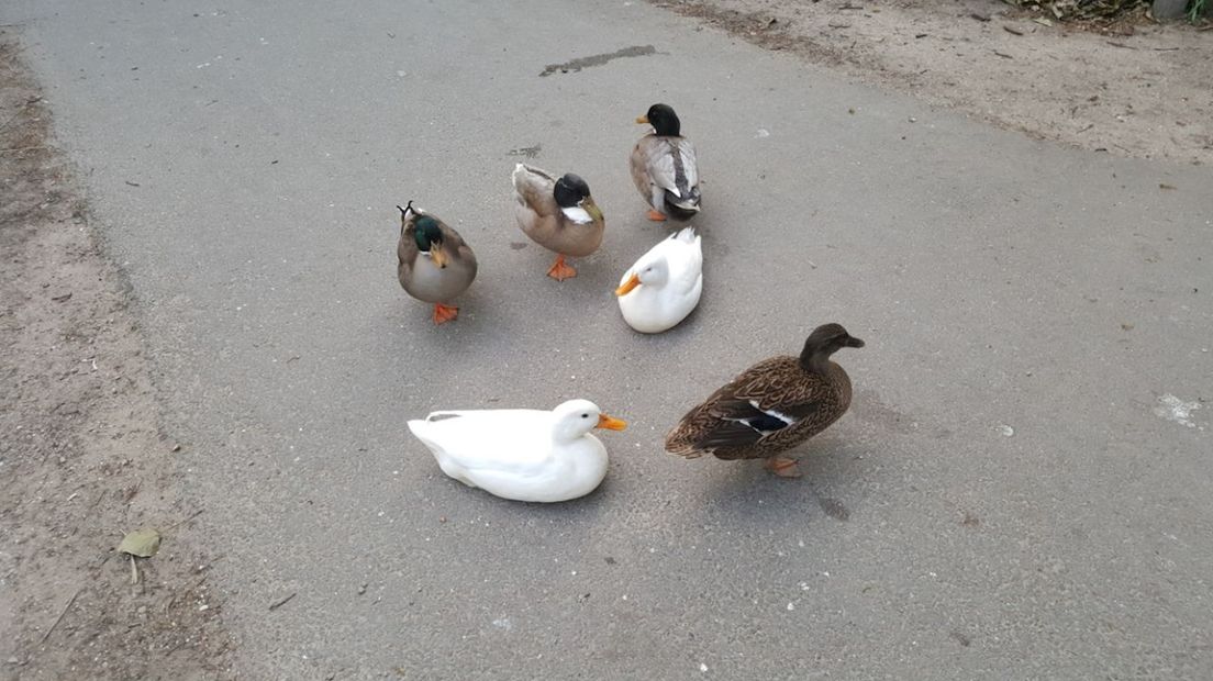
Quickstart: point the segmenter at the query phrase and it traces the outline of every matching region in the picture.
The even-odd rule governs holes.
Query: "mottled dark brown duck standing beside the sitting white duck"
[[[850,378],[830,355],[864,342],[837,324],[819,326],[799,357],[756,364],[687,412],[666,435],[666,451],[689,459],[767,459],[782,477],[799,477],[796,459],[779,456],[838,420],[850,406]]]

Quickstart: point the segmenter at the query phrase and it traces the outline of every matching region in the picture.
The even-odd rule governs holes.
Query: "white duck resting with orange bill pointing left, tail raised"
[[[662,239],[623,273],[615,290],[623,321],[640,333],[678,325],[704,292],[704,251],[694,227]]]

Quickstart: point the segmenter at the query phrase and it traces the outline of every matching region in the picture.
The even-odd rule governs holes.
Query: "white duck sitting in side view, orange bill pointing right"
[[[593,492],[606,476],[606,448],[591,430],[623,430],[590,400],[551,411],[433,412],[409,430],[438,468],[468,487],[516,502],[556,503]]]

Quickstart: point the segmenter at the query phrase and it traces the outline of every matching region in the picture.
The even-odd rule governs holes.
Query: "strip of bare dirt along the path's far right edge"
[[[1063,24],[998,0],[653,2],[1036,138],[1213,162],[1208,23]]]

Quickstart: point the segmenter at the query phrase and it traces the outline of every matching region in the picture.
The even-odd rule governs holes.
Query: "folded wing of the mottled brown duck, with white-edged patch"
[[[717,448],[751,447],[837,407],[826,379],[796,357],[759,362],[691,410],[666,437],[671,453],[695,458]]]

